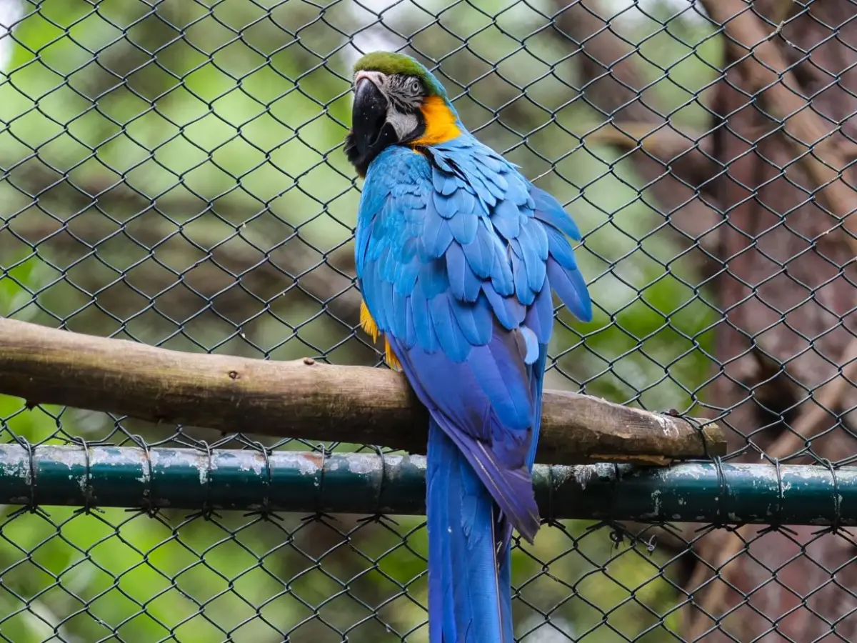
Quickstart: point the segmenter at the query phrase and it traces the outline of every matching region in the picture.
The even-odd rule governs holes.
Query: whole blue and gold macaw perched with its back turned
[[[355,65],[345,153],[364,177],[361,322],[428,407],[428,632],[512,643],[512,527],[530,543],[530,471],[554,322],[551,289],[592,308],[580,232],[461,123],[428,69],[376,51]]]

